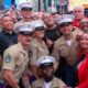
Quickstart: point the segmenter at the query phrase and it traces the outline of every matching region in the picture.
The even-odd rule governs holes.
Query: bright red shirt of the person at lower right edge
[[[88,88],[88,55],[78,69],[79,86],[78,88]]]

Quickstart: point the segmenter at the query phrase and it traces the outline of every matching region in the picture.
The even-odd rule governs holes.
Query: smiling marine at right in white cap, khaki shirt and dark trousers
[[[72,22],[70,15],[64,14],[59,19],[58,25],[63,36],[55,42],[53,56],[59,63],[56,76],[62,77],[68,86],[74,87],[76,86],[74,65],[78,58],[79,48],[76,34],[75,32],[73,33]]]

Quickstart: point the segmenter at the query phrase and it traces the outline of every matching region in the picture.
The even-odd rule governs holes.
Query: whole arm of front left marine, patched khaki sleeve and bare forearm
[[[7,48],[3,53],[3,65],[2,65],[2,76],[8,82],[8,85],[11,86],[11,88],[20,88],[16,81],[16,78],[13,74],[13,70],[15,69],[15,55],[13,53],[14,50]]]

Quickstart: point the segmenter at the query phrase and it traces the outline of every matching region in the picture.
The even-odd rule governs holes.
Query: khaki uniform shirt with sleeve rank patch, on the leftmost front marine
[[[6,50],[2,69],[12,70],[19,82],[19,79],[26,73],[29,59],[28,52],[23,50],[21,43],[18,43]]]

